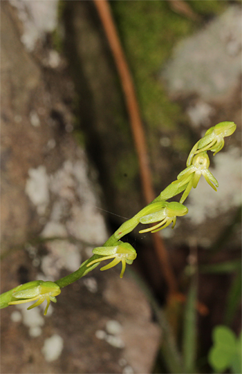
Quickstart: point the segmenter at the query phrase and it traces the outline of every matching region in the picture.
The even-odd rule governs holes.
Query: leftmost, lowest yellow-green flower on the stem
[[[6,308],[9,305],[28,303],[29,301],[36,301],[28,307],[29,309],[39,306],[45,300],[47,301],[46,309],[44,310],[44,315],[48,311],[50,301],[56,303],[56,298],[60,294],[61,290],[56,283],[51,281],[32,281],[25,283],[21,286],[15,287],[12,290],[1,294],[1,308]]]

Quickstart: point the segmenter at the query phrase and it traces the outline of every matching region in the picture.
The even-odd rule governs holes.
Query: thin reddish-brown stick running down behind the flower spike
[[[136,92],[133,86],[133,80],[131,73],[129,72],[129,66],[125,59],[118,32],[115,28],[111,10],[108,1],[106,0],[93,0],[97,8],[97,12],[100,15],[102,25],[106,32],[106,37],[109,41],[109,46],[113,53],[113,58],[117,66],[118,73],[122,88],[124,91],[124,97],[127,104],[127,111],[129,114],[129,120],[131,124],[131,131],[133,133],[133,140],[135,143],[136,151],[138,154],[138,162],[140,165],[140,178],[142,183],[142,190],[145,197],[145,201],[149,204],[154,198],[155,194],[151,185],[151,172],[149,169],[149,158],[147,153],[147,144],[145,141],[145,133],[142,127],[142,121],[140,118],[140,111],[138,101],[136,99]],[[167,250],[162,242],[162,239],[158,234],[152,234],[153,245],[155,247],[164,277],[167,281],[169,288],[169,294],[175,294],[177,292],[176,278],[174,272],[169,263],[167,256]]]

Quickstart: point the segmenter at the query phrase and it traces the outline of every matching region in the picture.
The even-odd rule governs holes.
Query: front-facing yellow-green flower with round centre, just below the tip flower
[[[198,153],[194,156],[192,165],[178,174],[177,180],[175,180],[171,184],[178,185],[179,187],[183,187],[184,185],[186,185],[183,196],[180,198],[180,203],[183,203],[185,201],[192,187],[196,188],[202,174],[205,180],[207,180],[207,183],[216,191],[216,187],[218,187],[218,181],[208,170],[209,166],[210,159],[207,156],[207,152]]]

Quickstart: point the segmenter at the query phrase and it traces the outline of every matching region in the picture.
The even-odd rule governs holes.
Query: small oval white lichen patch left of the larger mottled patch
[[[37,208],[37,213],[43,215],[46,212],[50,196],[48,190],[49,178],[46,167],[43,165],[37,169],[28,170],[29,178],[26,181],[26,194]]]

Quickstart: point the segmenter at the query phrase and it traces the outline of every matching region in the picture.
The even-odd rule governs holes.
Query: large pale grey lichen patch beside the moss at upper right
[[[180,41],[162,73],[171,94],[197,93],[203,100],[227,95],[240,75],[239,6],[230,6],[203,30]]]

